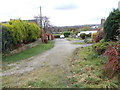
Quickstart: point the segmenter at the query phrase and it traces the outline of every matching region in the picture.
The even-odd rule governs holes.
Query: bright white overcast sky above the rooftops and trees
[[[0,22],[21,18],[33,19],[39,14],[50,17],[52,25],[99,24],[120,0],[1,0]]]

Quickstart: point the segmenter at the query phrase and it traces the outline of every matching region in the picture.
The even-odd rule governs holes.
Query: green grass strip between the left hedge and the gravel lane
[[[54,41],[49,41],[48,44],[39,44],[35,47],[29,48],[25,51],[22,51],[20,53],[17,54],[13,54],[11,56],[5,56],[2,58],[2,62],[3,63],[12,63],[18,60],[22,60],[22,59],[26,59],[32,56],[35,56],[37,54],[43,53],[51,48],[54,47]]]

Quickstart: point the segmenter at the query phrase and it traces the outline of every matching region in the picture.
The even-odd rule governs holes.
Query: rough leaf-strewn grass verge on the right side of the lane
[[[80,48],[77,50],[77,58],[71,60],[72,75],[68,76],[69,87],[118,88],[118,74],[112,79],[107,78],[102,70],[105,57],[95,54],[91,49],[91,47]]]

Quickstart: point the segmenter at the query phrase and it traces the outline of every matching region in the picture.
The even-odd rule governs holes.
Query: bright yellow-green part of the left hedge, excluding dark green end
[[[9,31],[13,37],[13,44],[15,45],[35,41],[40,36],[39,27],[27,21],[11,20],[4,26],[6,26],[7,31]]]

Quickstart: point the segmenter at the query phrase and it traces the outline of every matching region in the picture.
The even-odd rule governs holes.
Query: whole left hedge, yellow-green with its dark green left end
[[[40,29],[34,23],[11,20],[3,26],[3,53],[19,47],[22,43],[35,41],[40,36]],[[6,46],[7,45],[7,46]]]

